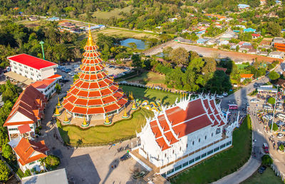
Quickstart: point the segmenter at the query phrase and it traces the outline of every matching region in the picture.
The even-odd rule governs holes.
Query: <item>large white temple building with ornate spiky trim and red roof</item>
[[[232,125],[227,124],[228,116],[214,96],[182,98],[147,118],[137,133],[141,144],[130,155],[147,170],[167,178],[232,146],[239,115]]]

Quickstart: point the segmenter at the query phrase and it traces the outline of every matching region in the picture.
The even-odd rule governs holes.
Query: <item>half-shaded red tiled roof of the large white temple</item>
[[[153,120],[150,122],[150,128],[155,136],[157,145],[162,150],[170,148],[170,145],[177,143],[179,141],[177,138],[187,136],[201,128],[224,125],[224,121],[221,118],[222,115],[214,104],[214,99],[202,100],[201,98],[197,98],[190,101],[185,110],[179,106],[175,106],[168,108],[165,114],[158,116],[158,121]],[[171,127],[167,123],[165,116],[170,121]]]

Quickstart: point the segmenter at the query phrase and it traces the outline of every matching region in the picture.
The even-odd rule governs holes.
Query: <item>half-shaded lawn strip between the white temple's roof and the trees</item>
[[[121,85],[123,91],[125,93],[133,92],[134,98],[140,98],[150,101],[157,101],[159,100],[164,105],[171,105],[175,103],[176,98],[180,98],[180,94],[170,93],[165,91],[159,91],[154,89],[147,89],[147,88],[138,88],[135,86],[125,86]]]

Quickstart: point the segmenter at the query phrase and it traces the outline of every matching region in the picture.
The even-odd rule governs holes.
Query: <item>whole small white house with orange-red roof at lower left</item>
[[[27,169],[35,171],[44,169],[41,165],[41,158],[46,158],[49,150],[44,140],[34,142],[27,138],[21,138],[18,145],[13,149],[16,153],[18,165],[24,172]]]

